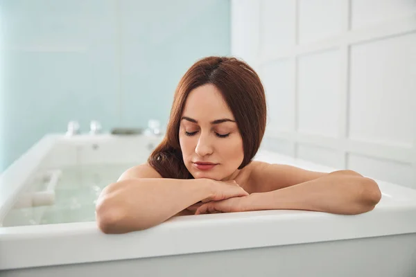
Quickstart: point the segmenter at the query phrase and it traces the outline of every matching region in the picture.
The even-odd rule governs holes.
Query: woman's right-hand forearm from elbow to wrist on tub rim
[[[372,210],[381,193],[377,184],[361,175],[333,172],[302,184],[250,195],[248,209],[294,209],[336,214],[358,214]]]

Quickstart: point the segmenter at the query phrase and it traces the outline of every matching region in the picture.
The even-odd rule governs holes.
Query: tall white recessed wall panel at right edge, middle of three
[[[416,32],[352,45],[350,70],[349,137],[411,147]]]

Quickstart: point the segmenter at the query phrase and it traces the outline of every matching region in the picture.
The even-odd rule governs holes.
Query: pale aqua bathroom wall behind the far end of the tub
[[[166,125],[181,75],[229,55],[227,0],[0,0],[0,172],[44,134]]]

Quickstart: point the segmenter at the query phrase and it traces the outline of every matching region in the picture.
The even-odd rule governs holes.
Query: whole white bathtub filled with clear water
[[[0,176],[0,276],[416,276],[416,190],[379,180],[381,202],[361,215],[189,215],[101,233],[96,197],[160,140],[44,136]],[[255,159],[336,170],[263,149]]]

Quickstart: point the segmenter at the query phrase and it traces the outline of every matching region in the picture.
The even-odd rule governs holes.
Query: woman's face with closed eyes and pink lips
[[[189,93],[180,121],[179,141],[185,166],[196,179],[232,179],[243,162],[239,128],[213,84]]]

